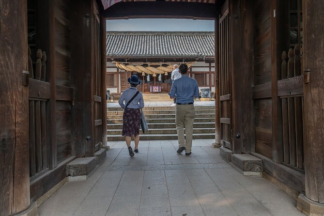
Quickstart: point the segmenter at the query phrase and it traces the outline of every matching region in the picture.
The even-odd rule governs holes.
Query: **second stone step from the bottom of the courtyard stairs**
[[[139,130],[140,134],[142,133],[142,130]],[[194,128],[193,131],[194,134],[215,134],[215,128]],[[107,130],[108,135],[122,135],[122,129],[113,129],[113,130]],[[157,136],[160,134],[177,134],[177,130],[175,128],[170,129],[149,129],[145,132],[145,134],[156,134]]]

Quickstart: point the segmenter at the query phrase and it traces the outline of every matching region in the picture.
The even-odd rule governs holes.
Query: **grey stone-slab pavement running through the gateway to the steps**
[[[68,182],[40,216],[303,216],[295,201],[262,177],[243,176],[213,139],[194,140],[190,156],[177,140],[108,143],[106,160],[87,181]],[[134,145],[134,143],[132,143]]]

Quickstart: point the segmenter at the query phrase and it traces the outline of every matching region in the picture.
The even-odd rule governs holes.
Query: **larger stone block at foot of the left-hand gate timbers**
[[[88,175],[97,165],[96,157],[79,157],[66,165],[66,175]]]

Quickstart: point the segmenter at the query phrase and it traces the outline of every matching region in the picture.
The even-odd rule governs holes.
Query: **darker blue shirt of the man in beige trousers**
[[[194,97],[199,97],[199,88],[196,79],[183,75],[172,83],[171,97],[176,97],[176,103],[188,104],[194,102]]]

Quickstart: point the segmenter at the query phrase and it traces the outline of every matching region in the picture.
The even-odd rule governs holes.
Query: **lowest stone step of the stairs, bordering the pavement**
[[[108,141],[123,141],[125,138],[121,135],[109,135],[107,136]],[[176,134],[144,134],[140,135],[140,140],[172,140],[178,139]],[[193,134],[193,139],[215,139],[215,133],[213,134]]]

